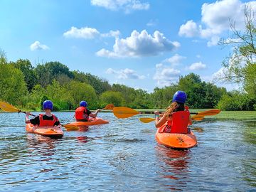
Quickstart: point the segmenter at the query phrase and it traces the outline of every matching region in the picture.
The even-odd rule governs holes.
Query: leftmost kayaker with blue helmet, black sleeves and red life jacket
[[[43,102],[43,110],[46,114],[39,114],[33,119],[28,119],[30,112],[26,112],[26,123],[31,123],[33,125],[38,125],[39,127],[53,127],[60,125],[58,118],[51,113],[53,110],[53,102],[46,100]]]

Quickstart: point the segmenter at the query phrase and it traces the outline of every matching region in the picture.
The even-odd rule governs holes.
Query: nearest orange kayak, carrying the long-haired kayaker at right
[[[161,128],[156,131],[156,142],[159,144],[175,149],[188,149],[197,145],[196,135],[192,131],[190,134],[164,133],[159,132]]]

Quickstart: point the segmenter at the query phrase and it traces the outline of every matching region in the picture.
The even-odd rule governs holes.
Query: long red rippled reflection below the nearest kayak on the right
[[[178,191],[186,187],[189,182],[188,161],[189,150],[169,149],[165,146],[156,146],[156,153],[159,157],[162,178],[170,178],[171,183],[166,183],[165,186],[171,190]],[[163,164],[164,163],[164,164]]]

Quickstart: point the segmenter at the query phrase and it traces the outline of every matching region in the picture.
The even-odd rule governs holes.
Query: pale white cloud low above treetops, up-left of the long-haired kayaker
[[[153,77],[157,81],[159,87],[169,86],[172,82],[176,82],[181,75],[180,70],[169,68],[162,63],[156,64],[156,73]]]

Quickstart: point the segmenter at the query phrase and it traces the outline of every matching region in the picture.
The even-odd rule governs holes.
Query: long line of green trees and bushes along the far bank
[[[90,73],[71,71],[58,61],[36,67],[27,59],[7,62],[1,50],[0,62],[0,99],[29,110],[41,110],[44,100],[52,100],[54,110],[75,110],[81,100],[86,100],[90,109],[110,103],[137,109],[165,108],[176,90],[187,92],[190,107],[213,108],[227,93],[225,88],[201,81],[199,75],[193,73],[181,77],[177,84],[156,87],[148,93],[126,85],[110,85]]]

